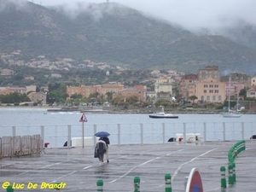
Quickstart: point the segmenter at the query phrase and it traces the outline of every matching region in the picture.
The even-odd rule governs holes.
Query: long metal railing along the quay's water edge
[[[256,134],[256,122],[192,122],[90,125],[29,125],[4,127],[2,135],[40,135],[49,148],[71,147],[73,137],[94,137],[97,131],[108,131],[111,144],[168,143],[170,138],[182,135],[182,143],[194,142],[190,135],[197,134],[199,142],[246,140]],[[196,134],[195,134],[196,133]],[[21,139],[22,141],[22,139]],[[16,141],[18,142],[18,141]],[[22,142],[24,143],[24,141]],[[25,149],[24,149],[25,150]]]

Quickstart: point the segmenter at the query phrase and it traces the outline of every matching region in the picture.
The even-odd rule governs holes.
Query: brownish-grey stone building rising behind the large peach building
[[[218,66],[208,66],[205,67],[204,69],[199,69],[198,70],[198,80],[203,80],[203,79],[220,79],[220,74],[218,71]]]

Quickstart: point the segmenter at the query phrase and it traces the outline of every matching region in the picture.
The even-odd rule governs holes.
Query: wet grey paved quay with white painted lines
[[[142,192],[164,192],[165,175],[170,173],[172,192],[178,192],[184,191],[184,178],[194,167],[201,172],[204,191],[256,191],[253,140],[246,142],[246,151],[235,161],[236,184],[220,188],[220,166],[226,167],[228,181],[228,151],[235,143],[110,145],[110,162],[102,166],[93,158],[93,147],[45,148],[40,155],[0,160],[0,191],[7,191],[8,183],[15,186],[14,191],[53,191],[53,183],[60,183],[61,191],[91,192],[97,191],[96,181],[102,179],[103,191],[133,192],[137,176]]]

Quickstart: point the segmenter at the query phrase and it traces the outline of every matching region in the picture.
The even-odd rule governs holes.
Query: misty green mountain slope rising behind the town
[[[197,73],[255,73],[256,49],[224,36],[197,36],[119,3],[80,3],[77,9],[0,0],[0,52],[20,49],[20,59],[45,55],[106,62],[130,69],[173,69]]]

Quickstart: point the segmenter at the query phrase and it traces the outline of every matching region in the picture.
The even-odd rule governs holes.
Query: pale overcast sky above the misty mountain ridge
[[[105,3],[107,0],[29,0],[43,6],[82,3]],[[256,0],[109,0],[142,10],[189,30],[218,29],[234,25],[234,19],[256,24]]]

